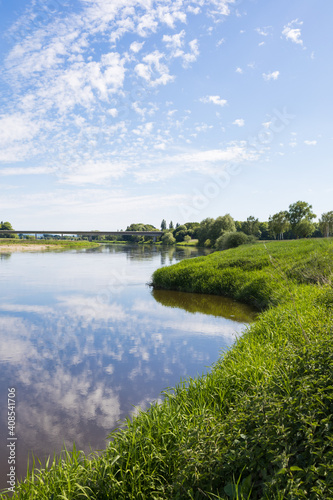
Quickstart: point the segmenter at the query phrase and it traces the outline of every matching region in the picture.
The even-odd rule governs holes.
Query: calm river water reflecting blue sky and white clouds
[[[73,441],[102,449],[119,420],[204,373],[254,319],[220,297],[152,291],[155,269],[196,249],[105,246],[0,254],[0,488],[7,390],[17,394],[16,471]]]

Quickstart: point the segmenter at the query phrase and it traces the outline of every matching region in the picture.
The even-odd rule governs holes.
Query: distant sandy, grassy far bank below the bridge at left
[[[99,243],[89,241],[0,239],[0,253],[40,252],[42,250],[80,249],[98,246]]]

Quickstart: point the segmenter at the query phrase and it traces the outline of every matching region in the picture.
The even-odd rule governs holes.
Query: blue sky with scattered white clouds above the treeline
[[[0,0],[0,218],[333,209],[333,4]]]

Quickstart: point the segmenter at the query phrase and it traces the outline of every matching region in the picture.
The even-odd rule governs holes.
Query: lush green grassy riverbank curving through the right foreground
[[[102,456],[65,451],[13,498],[332,499],[332,252],[332,240],[271,243],[156,271],[155,286],[240,295],[263,312]]]

